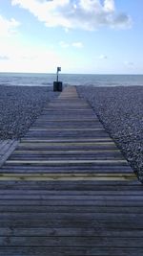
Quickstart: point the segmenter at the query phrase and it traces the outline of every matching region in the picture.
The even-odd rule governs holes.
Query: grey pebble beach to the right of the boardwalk
[[[143,87],[77,86],[143,182]]]

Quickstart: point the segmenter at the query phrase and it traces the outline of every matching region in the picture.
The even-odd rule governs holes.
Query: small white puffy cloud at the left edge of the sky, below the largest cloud
[[[16,33],[20,23],[14,18],[7,19],[0,15],[0,37],[8,37]]]

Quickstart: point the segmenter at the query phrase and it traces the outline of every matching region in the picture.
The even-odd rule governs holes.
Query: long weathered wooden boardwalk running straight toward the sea
[[[0,255],[143,255],[142,185],[73,86],[0,169]]]

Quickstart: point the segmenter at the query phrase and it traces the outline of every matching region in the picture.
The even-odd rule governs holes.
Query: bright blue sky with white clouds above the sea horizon
[[[143,0],[0,0],[0,72],[143,74]]]

